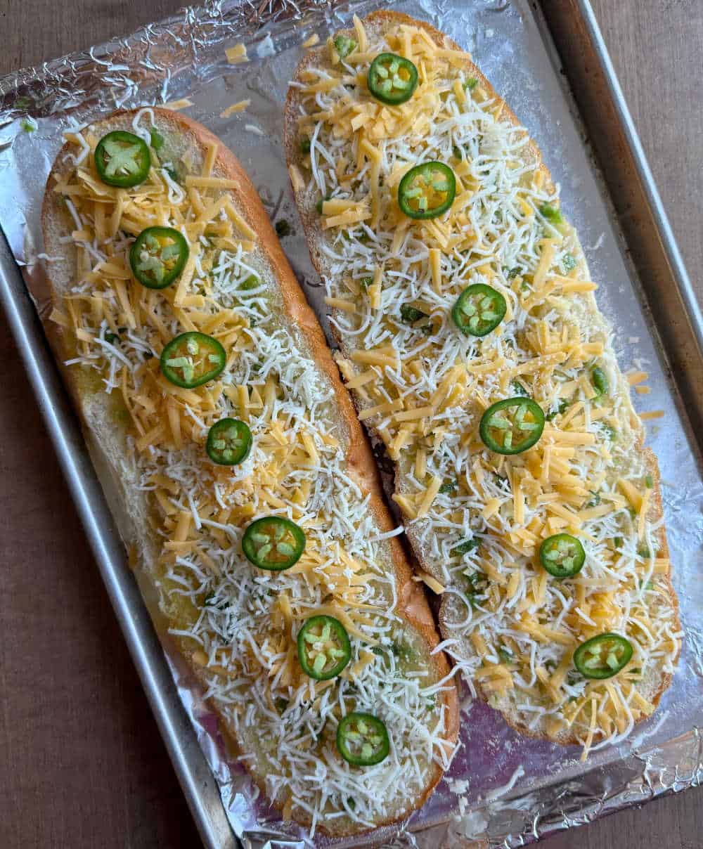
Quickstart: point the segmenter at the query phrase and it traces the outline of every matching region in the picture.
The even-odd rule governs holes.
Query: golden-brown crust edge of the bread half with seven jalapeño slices
[[[136,114],[136,111],[120,110],[114,112],[101,121],[94,123],[91,129],[98,135],[102,135],[104,132],[109,132],[115,128],[131,128],[132,117]],[[371,509],[374,520],[380,527],[380,531],[391,531],[394,525],[391,520],[391,514],[383,499],[378,470],[374,464],[374,458],[368,445],[368,440],[358,422],[349,393],[341,382],[339,370],[324,339],[322,329],[314,312],[312,312],[311,307],[307,303],[301,286],[298,284],[295,274],[290,267],[290,263],[284,255],[271,222],[262,206],[261,200],[259,200],[256,188],[250,182],[250,178],[232,151],[197,121],[192,120],[187,115],[182,115],[172,110],[155,107],[153,111],[155,121],[160,129],[168,127],[170,132],[186,134],[194,140],[194,143],[200,149],[204,149],[206,144],[217,144],[217,156],[213,173],[221,177],[234,179],[239,183],[239,187],[233,190],[233,194],[236,196],[239,208],[246,221],[258,235],[259,245],[271,267],[273,278],[277,281],[278,289],[284,301],[285,312],[291,321],[295,323],[295,326],[300,329],[312,357],[335,392],[338,413],[348,437],[349,448],[346,454],[346,462],[351,476],[356,478],[358,485],[364,492],[368,492],[369,509]],[[62,261],[53,263],[48,268],[48,282],[51,288],[53,306],[57,307],[61,305],[64,289],[72,278],[70,273],[72,266],[70,256],[67,256],[66,246],[59,243],[59,233],[61,233],[67,216],[65,216],[65,212],[61,209],[57,196],[53,192],[53,183],[54,177],[72,167],[65,165],[65,155],[69,151],[69,143],[66,143],[59,150],[59,154],[54,160],[52,170],[49,173],[47,190],[44,194],[42,205],[42,231],[44,234],[45,250],[50,251],[53,256],[63,257]],[[72,247],[71,250],[73,250]],[[75,340],[72,334],[66,332],[58,324],[47,322],[45,325],[49,340],[59,360],[65,384],[68,386],[71,396],[74,402],[76,402],[76,407],[81,413],[83,429],[87,431],[87,436],[89,436],[91,429],[95,427],[92,410],[93,392],[90,391],[87,385],[82,384],[80,377],[76,377],[75,369],[70,369],[63,364],[65,359],[75,356]],[[109,407],[112,403],[110,396],[106,396],[105,393],[100,394],[103,396],[101,400],[104,405]],[[110,461],[110,458],[108,459]],[[113,475],[116,475],[114,464],[111,464],[111,470]],[[119,475],[116,476],[119,477]],[[115,482],[119,483],[119,481]],[[121,486],[118,488],[121,493],[121,501],[124,502],[125,493]],[[134,511],[129,509],[129,505],[122,503],[121,507],[127,509],[130,519],[134,520],[137,518],[133,515]],[[121,528],[121,531],[128,549],[131,550],[133,545],[143,543],[143,540],[138,539],[140,536],[138,528]],[[402,544],[395,537],[391,537],[386,543],[390,550],[390,561],[396,576],[398,599],[396,610],[398,615],[408,622],[408,625],[413,627],[415,632],[419,634],[419,637],[422,638],[427,647],[427,655],[432,670],[436,680],[439,681],[449,674],[450,667],[446,656],[442,652],[434,655],[431,654],[432,649],[435,649],[439,642],[439,637],[436,631],[435,621],[430,612],[430,606],[425,597],[425,592],[417,582],[413,581],[413,572],[410,565],[408,565],[408,559],[402,548]],[[142,545],[141,548],[144,548],[144,546]],[[149,547],[146,546],[146,548]],[[143,565],[145,571],[149,572],[149,563],[144,563]],[[183,641],[179,640],[177,642],[179,644],[179,650],[188,663],[189,671],[195,678],[200,680],[200,683],[205,683],[200,666],[193,660],[193,651],[188,649],[183,644]],[[447,689],[440,694],[440,697],[446,706],[447,751],[451,751],[453,744],[458,738],[458,694],[455,684],[453,682],[447,683]],[[210,707],[211,710],[218,713],[217,706],[212,701],[210,702]],[[222,734],[228,740],[230,749],[236,754],[243,754],[239,741],[235,739],[228,729],[227,723],[224,722],[219,713],[218,717]],[[258,785],[259,790],[261,790],[262,795],[266,796],[266,787],[263,781],[253,771],[250,774]],[[378,822],[376,827],[393,824],[408,816],[413,810],[421,807],[428,796],[430,796],[432,790],[434,790],[442,774],[441,767],[435,762],[430,780],[422,794],[418,798],[413,799],[411,804],[400,814]],[[273,806],[278,808],[279,811],[282,810],[282,805],[278,802],[273,803]],[[299,808],[294,808],[293,818],[303,826],[308,826],[311,823],[311,819],[307,813],[301,812]],[[365,829],[359,829],[358,825],[351,820],[347,820],[347,824],[345,824],[343,822],[344,819],[337,819],[332,828],[321,823],[318,825],[318,830],[334,836],[362,834],[364,832]]]

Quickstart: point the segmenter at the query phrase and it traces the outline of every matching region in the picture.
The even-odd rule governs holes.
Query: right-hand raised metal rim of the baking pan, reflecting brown
[[[703,313],[588,0],[535,7],[545,43],[593,146],[604,191],[632,262],[692,433],[703,424]],[[655,306],[654,306],[655,305]],[[701,448],[695,437],[692,441]]]

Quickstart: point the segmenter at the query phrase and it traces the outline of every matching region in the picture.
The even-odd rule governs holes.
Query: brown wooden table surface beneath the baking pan
[[[181,0],[0,0],[0,74],[158,20]],[[593,0],[695,283],[703,267],[703,3]],[[699,290],[700,291],[700,290]],[[199,846],[0,315],[0,846]],[[700,790],[545,849],[701,849]]]

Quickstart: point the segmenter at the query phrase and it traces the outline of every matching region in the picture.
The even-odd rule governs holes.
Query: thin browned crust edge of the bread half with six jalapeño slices
[[[391,10],[380,10],[376,12],[372,12],[368,14],[363,19],[363,24],[365,28],[368,30],[378,30],[380,28],[385,28],[387,25],[411,25],[415,27],[419,27],[427,32],[427,34],[439,45],[445,48],[451,48],[455,50],[461,50],[462,48],[454,42],[453,39],[447,37],[444,33],[437,30],[436,27],[427,23],[424,20],[417,20],[411,17],[408,14],[403,14],[400,12],[394,12]],[[336,35],[346,35],[350,37],[354,37],[355,31],[352,29],[340,30]],[[320,66],[324,65],[326,62],[325,59],[325,50],[324,46],[313,48],[309,50],[306,55],[301,59],[299,65],[297,65],[295,69],[294,79],[300,81],[301,72],[307,70],[307,68],[311,66]],[[465,62],[465,66],[470,76],[475,77],[488,93],[489,98],[496,98],[502,104],[501,118],[502,120],[509,121],[514,127],[520,127],[521,123],[518,120],[515,112],[510,109],[509,104],[505,102],[503,98],[496,92],[496,90],[492,87],[492,84],[486,79],[486,76],[481,72],[481,69],[475,65],[473,61],[468,58]],[[295,87],[290,87],[288,96],[286,98],[285,103],[285,112],[284,112],[284,148],[286,153],[286,159],[289,165],[297,165],[301,162],[301,154],[297,147],[297,117],[299,115],[299,104],[300,104],[300,94],[298,89]],[[550,172],[548,171],[547,166],[543,163],[542,152],[537,147],[537,143],[530,138],[529,142],[525,145],[527,155],[526,159],[531,160],[531,163],[534,163],[537,171],[541,171],[543,174],[543,185],[548,188],[548,190],[554,190],[554,183],[552,181],[552,177]],[[323,230],[320,225],[320,218],[312,213],[312,211],[308,208],[305,209],[304,205],[301,203],[304,197],[304,191],[296,192],[295,188],[292,189],[293,194],[295,196],[296,203],[298,205],[298,209],[301,213],[301,219],[303,222],[303,226],[305,228],[306,239],[308,250],[310,252],[310,256],[312,258],[312,263],[317,269],[318,273],[322,276],[324,273],[324,264],[323,257],[318,250],[318,243],[323,238]],[[584,258],[585,263],[585,258]],[[587,269],[588,270],[588,269]],[[598,310],[598,306],[595,301],[595,297],[592,292],[586,293],[586,297],[589,302],[593,305],[594,310]],[[342,348],[344,348],[344,340],[340,335],[340,332],[334,328],[332,329],[333,334],[335,335],[335,340],[340,344]],[[624,379],[623,379],[624,380]],[[361,409],[363,407],[363,403],[360,402],[356,393],[352,393],[354,397],[354,402],[357,405],[357,408]],[[660,486],[660,472],[659,466],[657,464],[654,453],[650,450],[650,448],[644,447],[644,427],[642,426],[641,421],[638,419],[637,414],[634,412],[632,408],[632,404],[630,402],[629,406],[629,415],[631,422],[633,423],[633,429],[637,432],[637,440],[636,440],[636,448],[639,453],[642,453],[644,457],[644,462],[646,465],[646,469],[648,473],[652,476],[654,481],[654,487],[651,496],[650,502],[650,510],[648,514],[648,518],[652,521],[656,521],[661,519],[663,515],[662,506],[661,506],[661,486]],[[373,424],[369,424],[367,422],[364,423],[364,426],[367,428],[369,433],[374,437],[380,444],[382,440],[380,436],[376,433]],[[387,455],[386,455],[387,456]],[[396,478],[400,474],[400,469],[397,464],[395,464],[390,458],[389,462],[394,465],[396,469]],[[425,571],[430,572],[432,574],[432,566],[426,559],[422,549],[419,546],[418,539],[416,534],[413,533],[412,528],[406,528],[406,535],[408,537],[408,541],[413,548],[413,554],[418,559],[419,564]],[[659,540],[659,551],[660,556],[662,558],[668,557],[668,546],[666,543],[666,528],[662,525],[660,530],[658,531],[658,540]],[[678,622],[678,599],[676,597],[676,593],[672,587],[671,581],[671,571],[666,573],[666,588],[669,593],[672,607],[675,610],[676,619]],[[447,610],[447,602],[442,599],[441,606],[439,610],[439,622],[441,633],[444,638],[449,638],[450,636],[454,636],[453,632],[451,632],[447,628],[447,619],[448,619],[448,610]],[[680,623],[679,623],[680,626]],[[680,646],[678,649],[678,653],[680,654]],[[678,659],[678,655],[677,655]],[[645,689],[648,693],[647,698],[650,700],[652,704],[655,706],[659,704],[661,700],[662,694],[669,687],[672,681],[672,675],[668,672],[661,672],[660,678],[658,682],[645,682],[643,689]],[[478,692],[481,694],[481,697],[486,702],[489,699],[489,693],[487,693],[481,687],[481,683],[477,682],[476,687]],[[531,731],[530,728],[527,728],[526,725],[517,720],[515,716],[511,716],[506,711],[499,710],[503,718],[506,722],[508,722],[511,728],[514,728],[520,734],[524,734],[529,737],[535,737],[538,739],[550,739],[554,740],[552,737],[547,737],[544,734],[536,734]],[[643,722],[647,717],[640,717],[637,722]],[[559,742],[562,745],[577,745],[579,743],[576,733],[572,729],[567,729],[565,732],[560,734],[556,738],[556,742]]]

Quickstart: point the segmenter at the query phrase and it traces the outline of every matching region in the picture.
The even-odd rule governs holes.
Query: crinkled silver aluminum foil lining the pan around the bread
[[[313,33],[323,40],[355,11],[362,15],[381,5],[332,0],[210,3],[127,38],[0,79],[0,226],[42,317],[48,306],[44,269],[51,258],[42,254],[39,214],[62,132],[116,108],[188,98],[188,115],[233,149],[273,221],[290,223],[284,250],[323,320],[318,276],[285,171],[282,104],[303,52],[301,42]],[[660,709],[625,743],[593,752],[584,764],[578,750],[521,737],[484,704],[465,700],[461,749],[421,811],[402,828],[384,829],[370,838],[314,842],[428,849],[525,846],[703,779],[698,732],[703,721],[703,481],[679,417],[676,375],[667,375],[666,355],[655,341],[576,109],[544,41],[540,13],[527,0],[402,0],[394,8],[429,20],[469,49],[537,139],[561,183],[562,205],[581,234],[593,279],[601,284],[599,303],[614,325],[620,363],[650,372],[652,393],[637,396],[635,403],[640,410],[666,413],[648,425],[648,441],[660,458],[686,639]],[[237,42],[245,42],[250,61],[229,65],[225,48]],[[244,113],[222,117],[229,105],[245,98],[251,103]],[[228,758],[199,689],[167,638],[163,645],[239,839],[251,847],[309,845],[301,829],[280,822],[242,767]]]

